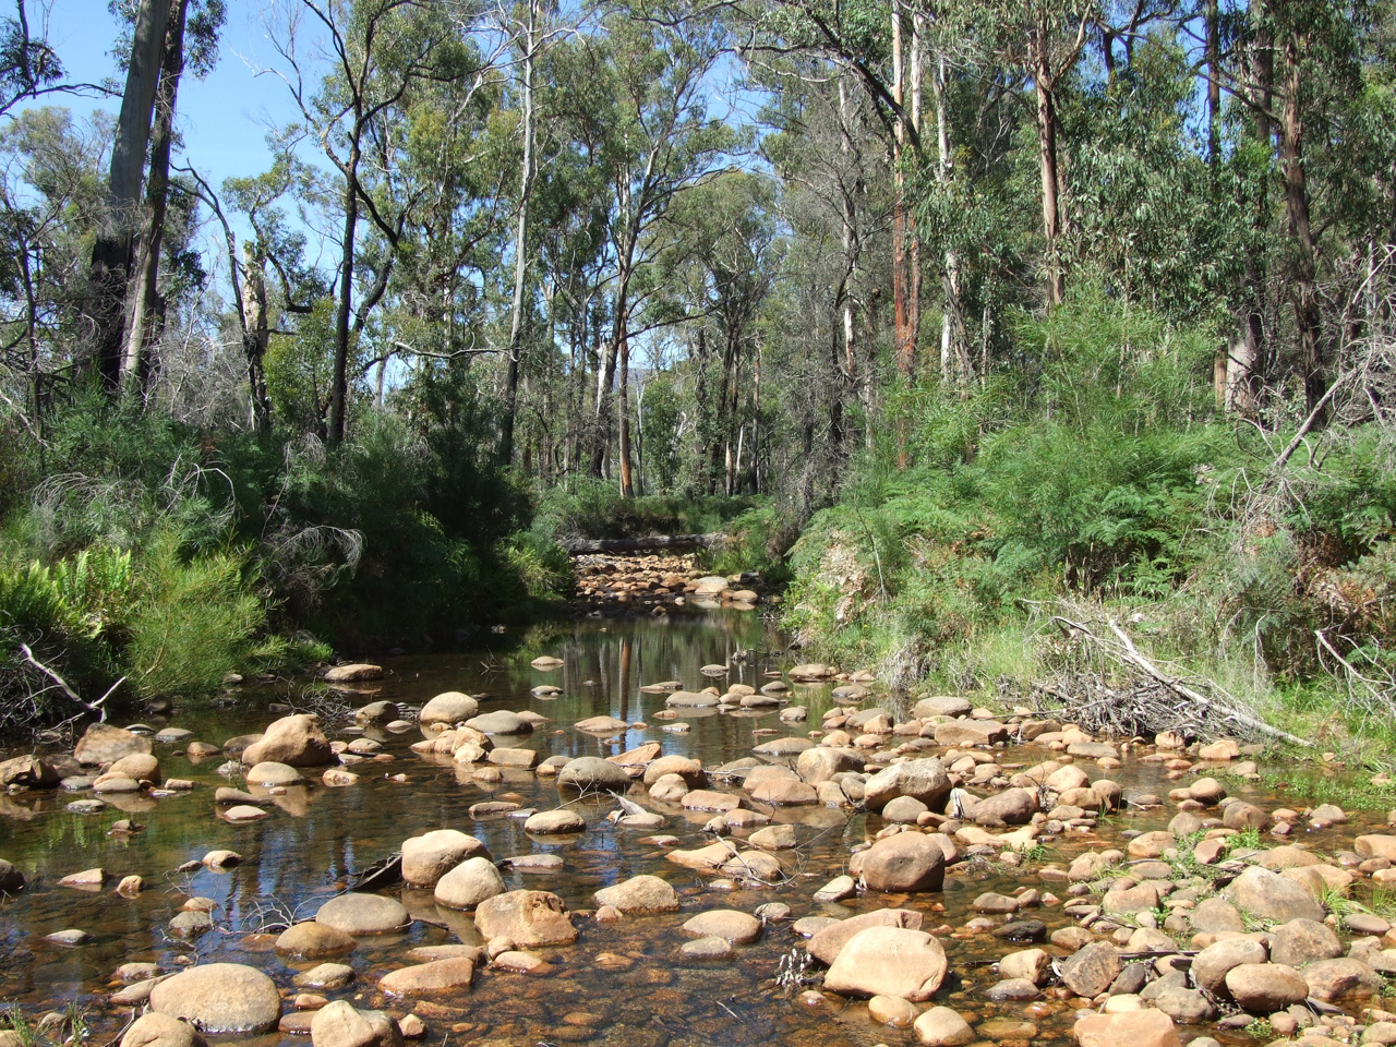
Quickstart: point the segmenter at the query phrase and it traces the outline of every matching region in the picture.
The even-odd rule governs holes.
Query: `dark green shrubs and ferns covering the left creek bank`
[[[25,716],[64,701],[21,644],[82,695],[123,676],[119,694],[198,695],[327,658],[306,628],[396,644],[556,593],[565,554],[511,539],[528,500],[454,412],[424,438],[367,412],[327,450],[78,398],[0,491],[0,695]]]

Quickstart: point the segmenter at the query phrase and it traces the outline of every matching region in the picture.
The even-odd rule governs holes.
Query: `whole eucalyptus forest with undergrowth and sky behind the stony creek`
[[[895,687],[1390,751],[1386,0],[279,0],[226,177],[222,0],[112,11],[0,18],[7,732],[720,529]]]

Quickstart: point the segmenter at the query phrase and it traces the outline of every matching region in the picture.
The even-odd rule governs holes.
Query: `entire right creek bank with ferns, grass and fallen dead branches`
[[[905,443],[790,553],[790,628],[896,685],[1050,705],[1139,677],[1114,623],[1209,694],[1390,759],[1389,429],[1315,430],[1282,461],[1300,419],[1279,396],[1272,431],[1224,416],[1215,338],[1101,296],[1015,343],[1020,367],[972,391],[902,391],[884,431]]]

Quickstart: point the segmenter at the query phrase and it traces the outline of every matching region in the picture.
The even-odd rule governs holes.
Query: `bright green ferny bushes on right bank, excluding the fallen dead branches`
[[[1025,600],[1161,599],[1209,554],[1198,477],[1233,444],[1208,339],[1087,288],[1015,342],[1025,367],[979,392],[898,396],[886,430],[912,430],[916,459],[879,447],[810,522],[790,558],[801,634],[914,680]]]

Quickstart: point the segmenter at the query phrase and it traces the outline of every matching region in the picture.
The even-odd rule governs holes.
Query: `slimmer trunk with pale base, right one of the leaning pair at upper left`
[[[126,306],[126,349],[121,353],[121,389],[144,395],[149,380],[149,350],[159,338],[155,320],[159,309],[161,244],[169,202],[170,147],[174,138],[174,103],[184,71],[184,20],[188,0],[173,0],[165,32],[165,57],[155,91],[155,126],[151,133],[151,172],[145,186],[145,235],[135,253],[135,269]]]

